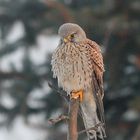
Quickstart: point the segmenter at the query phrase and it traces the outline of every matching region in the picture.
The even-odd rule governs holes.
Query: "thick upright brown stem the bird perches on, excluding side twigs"
[[[67,140],[77,140],[77,116],[79,110],[79,99],[72,99],[69,104],[69,122]]]

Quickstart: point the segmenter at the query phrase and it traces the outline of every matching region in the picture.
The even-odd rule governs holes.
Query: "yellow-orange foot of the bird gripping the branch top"
[[[70,94],[70,99],[78,99],[80,98],[80,101],[83,100],[83,90],[75,91],[73,90]]]

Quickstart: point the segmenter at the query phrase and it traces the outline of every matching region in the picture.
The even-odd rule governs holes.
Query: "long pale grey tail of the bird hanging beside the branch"
[[[103,125],[99,125],[97,131],[90,129],[101,123],[97,116],[96,102],[94,100],[92,90],[85,91],[83,101],[80,104],[80,108],[85,129],[88,130],[87,136],[89,140],[97,140],[97,137],[104,140],[105,129]]]

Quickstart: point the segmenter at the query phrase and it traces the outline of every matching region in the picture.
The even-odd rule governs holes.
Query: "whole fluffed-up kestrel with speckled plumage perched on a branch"
[[[58,29],[60,41],[52,54],[53,77],[58,86],[78,99],[88,139],[104,139],[105,118],[103,106],[104,63],[100,46],[87,38],[81,26],[64,23]],[[99,125],[97,130],[90,128]]]

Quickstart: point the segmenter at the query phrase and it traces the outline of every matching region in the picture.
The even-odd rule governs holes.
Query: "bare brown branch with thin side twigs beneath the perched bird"
[[[57,93],[59,93],[62,97],[66,98],[66,93],[62,90],[57,89],[55,86],[53,86],[50,82],[48,82],[48,85],[50,88],[55,90]],[[68,101],[68,100],[67,100]],[[56,124],[62,120],[69,120],[68,121],[68,137],[67,140],[77,140],[78,135],[85,133],[89,130],[95,130],[97,131],[98,127],[101,125],[104,125],[103,123],[98,123],[94,127],[91,127],[89,129],[85,129],[80,131],[79,133],[77,132],[77,116],[78,116],[78,110],[79,110],[79,99],[72,99],[69,103],[69,117],[65,115],[60,115],[56,119],[50,119],[49,122],[51,124]]]

